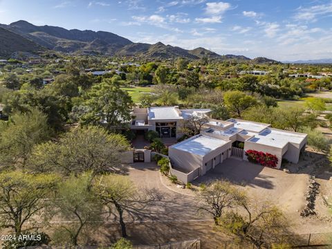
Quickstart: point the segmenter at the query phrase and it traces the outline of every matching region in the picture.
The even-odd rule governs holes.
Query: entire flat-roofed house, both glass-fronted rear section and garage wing
[[[158,132],[160,138],[180,138],[184,120],[205,116],[208,122],[201,133],[169,147],[171,173],[183,183],[203,176],[210,169],[232,157],[248,160],[246,151],[273,156],[279,169],[283,160],[298,163],[306,147],[304,133],[274,129],[270,124],[239,120],[214,120],[210,109],[179,109],[178,107],[149,107],[133,109],[131,129],[138,133]]]

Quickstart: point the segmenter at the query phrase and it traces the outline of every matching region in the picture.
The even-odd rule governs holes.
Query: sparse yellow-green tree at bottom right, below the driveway
[[[239,202],[242,212],[226,212],[219,228],[257,248],[261,248],[264,243],[279,242],[279,234],[288,228],[284,214],[269,203],[257,203],[257,200],[254,203],[251,205],[248,199],[242,199]]]

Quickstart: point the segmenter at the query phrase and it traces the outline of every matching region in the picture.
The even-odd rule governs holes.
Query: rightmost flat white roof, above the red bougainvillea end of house
[[[261,145],[283,148],[288,142],[299,145],[304,138],[306,138],[306,134],[304,133],[267,128],[253,138],[250,138],[248,141],[256,142]]]

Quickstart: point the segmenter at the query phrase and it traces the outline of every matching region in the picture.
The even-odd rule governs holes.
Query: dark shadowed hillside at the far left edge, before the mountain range
[[[15,33],[10,32],[4,28],[0,28],[0,56],[8,57],[14,52],[28,52],[33,53],[39,50],[44,50],[35,42],[21,37]]]

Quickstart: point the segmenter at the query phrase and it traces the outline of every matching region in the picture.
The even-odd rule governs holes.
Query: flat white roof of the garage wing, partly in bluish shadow
[[[221,140],[218,138],[211,138],[209,136],[197,135],[175,145],[172,145],[174,149],[190,152],[199,156],[205,156],[230,141]]]

